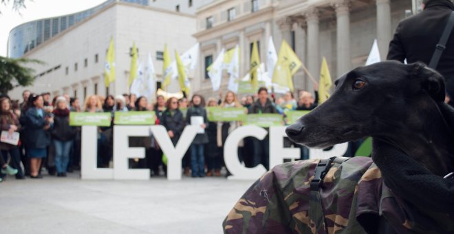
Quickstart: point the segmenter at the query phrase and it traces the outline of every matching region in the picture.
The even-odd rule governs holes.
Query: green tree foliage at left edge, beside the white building
[[[34,70],[25,67],[25,63],[43,63],[29,58],[5,58],[0,56],[0,93],[8,94],[8,91],[17,86],[32,85]]]

